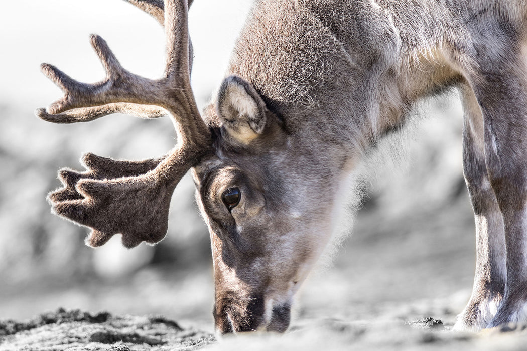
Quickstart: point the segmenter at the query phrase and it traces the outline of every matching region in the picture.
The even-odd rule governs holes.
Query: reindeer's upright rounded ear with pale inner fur
[[[264,132],[267,107],[255,88],[242,78],[225,78],[217,108],[223,127],[239,142],[248,144]]]

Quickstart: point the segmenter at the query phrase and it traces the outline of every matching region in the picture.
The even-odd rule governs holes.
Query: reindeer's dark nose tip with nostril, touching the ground
[[[264,313],[262,296],[223,297],[214,306],[216,331],[222,335],[256,331],[264,323]]]

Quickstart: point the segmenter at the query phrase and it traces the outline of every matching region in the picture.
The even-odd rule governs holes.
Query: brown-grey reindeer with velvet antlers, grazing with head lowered
[[[86,154],[85,172],[59,172],[64,186],[48,199],[92,229],[87,245],[118,233],[128,248],[159,242],[191,169],[212,244],[217,331],[284,332],[354,171],[417,101],[457,89],[477,258],[456,328],[527,320],[527,2],[258,0],[201,117],[190,87],[192,0],[127,1],[164,26],[162,77],[126,71],[96,35],[104,81],[42,65],[64,91],[36,111],[45,121],[168,114],[178,133],[159,159]]]

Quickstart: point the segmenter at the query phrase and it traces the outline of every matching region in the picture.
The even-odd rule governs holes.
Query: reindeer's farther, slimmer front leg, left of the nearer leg
[[[464,108],[463,171],[475,215],[476,272],[472,296],[454,328],[476,332],[489,324],[505,293],[505,233],[485,165],[481,109],[470,87],[461,88],[461,98]]]

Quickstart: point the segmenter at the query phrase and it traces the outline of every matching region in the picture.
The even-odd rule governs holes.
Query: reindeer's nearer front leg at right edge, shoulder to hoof
[[[501,21],[506,19],[501,18]],[[494,22],[493,22],[494,21]],[[505,294],[487,327],[527,320],[527,59],[514,23],[473,27],[469,80],[483,115],[485,164],[503,215]],[[523,38],[525,39],[525,38]]]

